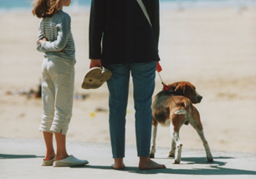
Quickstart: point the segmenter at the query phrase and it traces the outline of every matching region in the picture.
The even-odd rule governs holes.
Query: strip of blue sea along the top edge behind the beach
[[[0,0],[0,12],[31,11],[32,2],[33,0]],[[74,12],[90,9],[90,2],[91,0],[72,0],[69,9]],[[256,0],[159,0],[159,2],[160,8],[169,9],[256,6]]]

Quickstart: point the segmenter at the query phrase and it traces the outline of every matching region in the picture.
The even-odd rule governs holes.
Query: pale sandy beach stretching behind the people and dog
[[[75,94],[68,141],[110,143],[108,89],[82,89],[89,69],[89,10],[69,13],[76,47]],[[40,98],[21,95],[37,90],[43,53],[37,52],[37,17],[31,12],[0,14],[0,137],[42,138]],[[212,150],[256,152],[256,9],[234,7],[161,10],[161,78],[191,82],[203,97],[201,114]],[[126,117],[126,143],[136,144],[132,84]],[[156,74],[155,94],[161,91]],[[80,97],[84,95],[85,99]],[[184,148],[202,149],[197,132],[183,126]],[[171,145],[170,129],[159,127],[156,146]],[[167,153],[167,152],[166,152]]]

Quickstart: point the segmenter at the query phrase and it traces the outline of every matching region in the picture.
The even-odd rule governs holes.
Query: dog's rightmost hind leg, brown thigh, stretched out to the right
[[[199,112],[197,111],[196,107],[193,108],[192,111],[192,117],[190,117],[189,123],[194,127],[194,129],[197,131],[199,137],[202,140],[203,147],[206,152],[207,156],[207,162],[213,162],[212,153],[210,151],[210,147],[208,145],[208,142],[206,138],[204,137],[203,129],[202,129],[202,122],[200,120]]]

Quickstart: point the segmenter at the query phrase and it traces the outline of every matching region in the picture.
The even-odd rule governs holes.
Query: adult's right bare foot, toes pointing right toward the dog
[[[158,164],[154,161],[151,161],[150,157],[140,157],[140,162],[139,162],[140,170],[161,169],[161,168],[166,168],[166,166]]]

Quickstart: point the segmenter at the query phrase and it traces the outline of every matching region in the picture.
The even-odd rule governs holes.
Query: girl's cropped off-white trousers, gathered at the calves
[[[42,64],[43,132],[66,135],[72,116],[75,61],[46,56]]]

